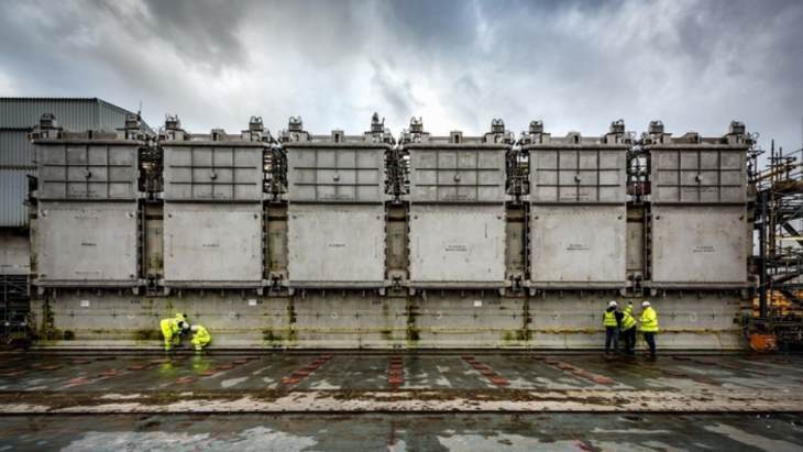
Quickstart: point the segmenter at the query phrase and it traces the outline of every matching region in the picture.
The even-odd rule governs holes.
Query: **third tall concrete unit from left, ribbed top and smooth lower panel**
[[[292,289],[385,287],[385,154],[393,136],[371,130],[311,135],[300,119],[287,153],[287,279]]]

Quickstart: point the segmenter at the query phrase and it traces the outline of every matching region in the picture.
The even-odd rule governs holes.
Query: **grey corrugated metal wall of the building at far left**
[[[25,175],[36,174],[28,134],[44,113],[69,131],[113,132],[129,111],[97,98],[0,98],[0,228],[28,225]]]

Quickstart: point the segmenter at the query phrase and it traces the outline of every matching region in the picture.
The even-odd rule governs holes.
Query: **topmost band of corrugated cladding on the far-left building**
[[[56,115],[67,130],[113,132],[130,111],[98,98],[0,98],[0,129],[30,129],[44,113]],[[147,124],[143,128],[151,131]]]

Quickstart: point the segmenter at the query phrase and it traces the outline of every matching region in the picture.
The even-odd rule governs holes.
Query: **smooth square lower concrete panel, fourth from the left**
[[[505,207],[410,206],[414,286],[505,284]]]

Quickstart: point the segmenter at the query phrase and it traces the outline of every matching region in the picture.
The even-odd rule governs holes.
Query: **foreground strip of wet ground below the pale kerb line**
[[[799,451],[798,415],[0,417],[0,450]]]

